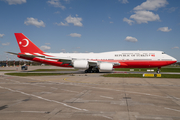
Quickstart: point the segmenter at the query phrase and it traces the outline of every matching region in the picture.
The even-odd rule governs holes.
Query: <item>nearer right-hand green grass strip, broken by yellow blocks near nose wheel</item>
[[[129,77],[144,78],[142,74],[105,74],[104,77]],[[154,78],[154,77],[153,77]],[[160,78],[180,78],[179,74],[161,74]]]

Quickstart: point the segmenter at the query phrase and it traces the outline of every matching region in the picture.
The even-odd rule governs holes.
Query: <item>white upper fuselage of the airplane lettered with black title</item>
[[[102,53],[46,53],[47,55],[85,60],[158,60],[176,61],[162,51],[113,51]]]

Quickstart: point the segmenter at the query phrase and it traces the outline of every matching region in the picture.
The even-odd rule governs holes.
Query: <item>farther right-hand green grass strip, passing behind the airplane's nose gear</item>
[[[157,68],[116,68],[115,71],[130,71],[130,69],[134,69],[134,71],[147,71],[154,69],[153,72],[157,71]],[[161,68],[161,72],[180,72],[180,68]],[[133,72],[133,71],[132,71]]]

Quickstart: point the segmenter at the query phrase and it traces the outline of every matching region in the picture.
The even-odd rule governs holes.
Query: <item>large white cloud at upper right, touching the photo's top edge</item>
[[[168,2],[166,0],[147,0],[133,10],[158,10],[161,7],[165,7],[167,4]]]

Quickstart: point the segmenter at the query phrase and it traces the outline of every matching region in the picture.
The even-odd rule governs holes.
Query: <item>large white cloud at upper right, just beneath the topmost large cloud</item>
[[[135,14],[131,15],[130,18],[134,19],[138,24],[148,23],[149,21],[160,21],[159,15],[155,15],[150,11],[135,11]]]

